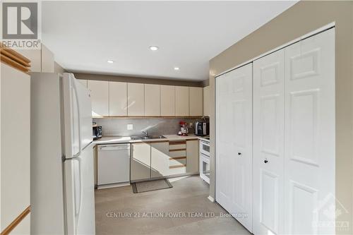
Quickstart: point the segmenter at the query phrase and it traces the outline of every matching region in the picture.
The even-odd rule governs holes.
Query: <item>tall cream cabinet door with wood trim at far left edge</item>
[[[1,62],[1,231],[30,205],[30,76]]]

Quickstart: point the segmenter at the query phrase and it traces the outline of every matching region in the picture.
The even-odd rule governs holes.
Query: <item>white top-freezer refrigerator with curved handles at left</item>
[[[95,234],[91,112],[72,73],[31,73],[31,234]]]

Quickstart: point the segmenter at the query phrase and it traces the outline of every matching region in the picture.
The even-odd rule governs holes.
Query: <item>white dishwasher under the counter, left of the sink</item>
[[[98,188],[130,184],[130,144],[98,145]]]

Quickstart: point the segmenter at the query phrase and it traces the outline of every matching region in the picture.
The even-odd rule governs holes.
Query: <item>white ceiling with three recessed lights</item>
[[[42,40],[69,71],[205,80],[210,59],[295,3],[44,1]]]

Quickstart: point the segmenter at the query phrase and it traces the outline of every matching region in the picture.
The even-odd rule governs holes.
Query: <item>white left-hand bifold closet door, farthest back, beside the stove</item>
[[[252,231],[252,64],[216,87],[216,200]]]

